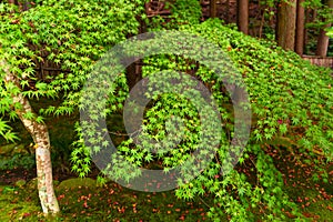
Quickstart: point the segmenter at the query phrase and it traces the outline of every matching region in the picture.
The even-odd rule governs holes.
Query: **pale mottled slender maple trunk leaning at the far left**
[[[10,83],[14,83],[20,88],[20,83],[14,74],[9,71],[4,61],[0,65],[6,71],[4,83],[9,88]],[[50,155],[50,139],[49,131],[44,123],[39,123],[34,119],[27,119],[28,113],[34,113],[30,102],[22,93],[12,94],[13,104],[20,104],[19,108],[13,108],[28,132],[32,135],[36,144],[36,164],[38,176],[38,192],[43,213],[59,213],[59,204],[53,190],[52,164]],[[16,107],[16,105],[13,105]]]

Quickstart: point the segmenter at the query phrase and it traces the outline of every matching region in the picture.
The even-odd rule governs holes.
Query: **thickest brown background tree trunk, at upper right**
[[[278,7],[276,42],[284,50],[295,48],[296,0],[282,1]]]

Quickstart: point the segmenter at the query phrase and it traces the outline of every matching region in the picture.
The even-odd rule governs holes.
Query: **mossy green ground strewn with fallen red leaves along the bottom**
[[[290,198],[309,221],[331,221],[332,176],[327,183],[316,182],[310,174],[311,169],[292,164],[278,162]],[[329,168],[332,172],[332,165]],[[90,178],[54,181],[54,188],[61,214],[47,219],[41,213],[36,180],[2,183],[0,221],[210,221],[205,213],[212,201],[209,196],[185,201],[176,199],[173,191],[144,193],[112,182],[101,186]],[[260,218],[258,214],[258,221]],[[293,221],[292,215],[290,221]]]

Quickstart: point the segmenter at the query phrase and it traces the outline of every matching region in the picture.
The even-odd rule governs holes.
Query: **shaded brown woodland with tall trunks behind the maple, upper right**
[[[171,1],[172,2],[172,1]],[[202,20],[220,18],[236,23],[240,31],[275,40],[305,59],[332,67],[333,40],[326,34],[332,23],[332,1],[202,0]],[[170,14],[165,1],[150,1],[148,13]],[[324,9],[325,8],[325,9]],[[311,58],[311,56],[313,56]],[[322,60],[321,60],[322,59]]]

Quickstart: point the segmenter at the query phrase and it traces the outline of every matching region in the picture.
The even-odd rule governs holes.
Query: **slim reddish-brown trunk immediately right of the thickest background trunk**
[[[305,28],[305,10],[302,6],[304,0],[297,0],[297,14],[296,14],[296,38],[295,38],[295,52],[303,56],[304,51],[304,28]]]

